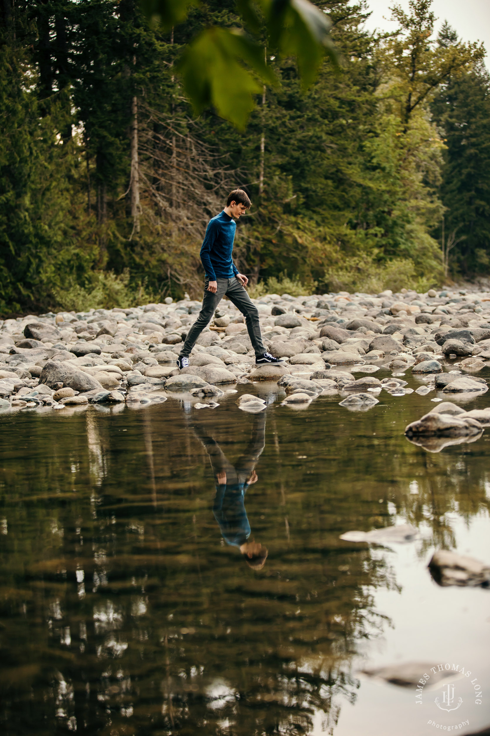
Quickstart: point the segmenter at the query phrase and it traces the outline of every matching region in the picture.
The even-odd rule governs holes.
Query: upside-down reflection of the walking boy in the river
[[[245,511],[245,493],[248,486],[258,481],[255,466],[265,446],[265,415],[261,413],[254,417],[251,441],[235,466],[201,427],[195,425],[194,430],[209,455],[215,475],[213,513],[223,539],[228,545],[239,548],[250,567],[260,570],[267,558],[267,548],[259,542],[248,541],[251,528]]]

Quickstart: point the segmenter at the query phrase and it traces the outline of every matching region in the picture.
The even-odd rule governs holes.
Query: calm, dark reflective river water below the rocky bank
[[[403,430],[433,392],[298,411],[275,384],[238,388],[267,410],[230,392],[0,415],[2,732],[424,736],[447,716],[436,691],[422,713],[414,687],[361,673],[406,662],[476,673],[458,732],[488,726],[490,592],[439,587],[427,564],[490,560],[490,431],[431,453]],[[223,489],[245,478],[230,525]],[[399,523],[419,538],[339,539]]]

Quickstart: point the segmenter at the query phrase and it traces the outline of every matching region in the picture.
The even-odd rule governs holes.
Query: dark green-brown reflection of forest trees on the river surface
[[[236,409],[220,417],[216,439],[238,456],[252,420]],[[304,414],[268,425],[247,494],[252,535],[270,550],[260,573],[220,544],[208,460],[170,400],[10,425],[0,497],[7,733],[76,724],[297,734],[315,712],[332,732],[342,699],[356,698],[359,642],[389,625],[375,587],[396,588],[383,553],[339,534],[391,523],[389,500],[439,534],[448,510],[469,518],[485,500],[483,456],[458,447],[449,465],[427,460],[391,428],[376,453],[350,436],[354,426],[364,437],[366,417],[355,420],[334,433]],[[26,431],[36,451],[19,462]]]

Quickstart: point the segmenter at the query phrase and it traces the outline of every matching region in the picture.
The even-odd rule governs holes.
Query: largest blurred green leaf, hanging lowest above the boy
[[[248,68],[243,66],[247,63]],[[238,30],[207,28],[184,49],[177,66],[195,113],[214,107],[218,115],[243,129],[262,82],[274,84],[264,49]]]

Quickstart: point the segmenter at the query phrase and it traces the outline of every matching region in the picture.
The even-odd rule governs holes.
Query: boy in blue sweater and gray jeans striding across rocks
[[[248,284],[248,278],[238,272],[231,258],[235,230],[237,230],[234,218],[239,219],[246,210],[251,208],[251,205],[245,191],[234,189],[228,195],[223,212],[209,220],[200,253],[206,274],[203,306],[198,319],[187,333],[184,346],[177,358],[178,368],[185,368],[189,365],[189,355],[196,340],[211,322],[215,309],[225,294],[245,315],[245,325],[247,325],[248,335],[255,351],[256,365],[281,362],[280,358],[273,358],[273,355],[266,353],[262,343],[259,311],[244,289],[244,286]]]

